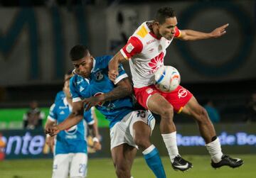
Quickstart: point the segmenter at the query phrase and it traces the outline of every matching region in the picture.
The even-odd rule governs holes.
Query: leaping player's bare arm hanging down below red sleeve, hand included
[[[116,55],[114,55],[112,60],[110,60],[110,63],[109,63],[109,78],[112,82],[114,82],[114,80],[117,78],[117,76],[119,74],[118,73],[118,65],[122,62],[125,62],[125,61],[126,61],[126,59],[120,51],[117,52]]]

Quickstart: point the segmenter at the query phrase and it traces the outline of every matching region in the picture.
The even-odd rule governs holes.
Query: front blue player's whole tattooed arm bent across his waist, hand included
[[[129,96],[132,94],[132,84],[129,82],[128,78],[122,79],[117,83],[117,87],[115,87],[112,91],[107,92],[105,94],[100,94],[98,96],[92,96],[90,98],[82,100],[85,107],[85,111],[88,111],[92,106],[96,106],[104,101],[113,101],[115,99],[122,99],[125,96]]]

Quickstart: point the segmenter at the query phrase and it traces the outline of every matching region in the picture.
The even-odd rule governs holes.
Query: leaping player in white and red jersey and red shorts
[[[195,30],[179,30],[173,9],[161,8],[154,21],[142,23],[124,46],[110,61],[109,77],[114,81],[119,72],[119,63],[129,60],[134,83],[134,94],[139,104],[161,116],[160,130],[169,152],[172,167],[181,171],[192,167],[178,154],[176,144],[176,127],[173,122],[174,111],[185,113],[196,119],[200,133],[206,141],[206,148],[211,155],[213,167],[239,167],[242,160],[223,155],[220,140],[217,138],[213,124],[203,107],[198,104],[193,94],[179,86],[171,93],[164,93],[154,86],[154,73],[164,65],[166,48],[174,38],[180,40],[201,40],[218,38],[226,33],[228,24],[216,28],[210,33]]]

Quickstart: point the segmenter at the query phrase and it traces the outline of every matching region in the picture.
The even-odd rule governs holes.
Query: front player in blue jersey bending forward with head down
[[[156,177],[165,178],[159,152],[149,140],[154,117],[149,111],[134,109],[132,84],[122,65],[119,76],[111,82],[107,65],[112,56],[93,58],[85,46],[76,45],[70,50],[70,58],[77,73],[70,79],[73,112],[58,126],[47,130],[50,135],[74,126],[81,121],[84,109],[96,106],[110,121],[111,153],[117,177],[132,177],[132,162],[139,148]]]

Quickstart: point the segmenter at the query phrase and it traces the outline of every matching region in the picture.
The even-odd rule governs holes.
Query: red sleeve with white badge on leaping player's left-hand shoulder
[[[124,48],[120,50],[122,55],[128,60],[134,55],[139,54],[142,52],[143,49],[143,44],[139,38],[132,36],[129,38],[128,42],[126,45],[124,45]]]

